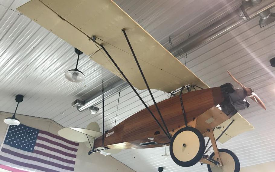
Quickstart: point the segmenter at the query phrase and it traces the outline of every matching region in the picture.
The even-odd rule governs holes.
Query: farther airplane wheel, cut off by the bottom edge
[[[239,172],[240,171],[240,161],[238,157],[228,149],[219,149],[219,154],[222,159],[222,167],[217,165],[207,165],[209,172]],[[210,158],[214,158],[214,152],[210,155]]]

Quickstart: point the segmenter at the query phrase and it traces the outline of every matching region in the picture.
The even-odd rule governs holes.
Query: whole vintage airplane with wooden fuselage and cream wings
[[[208,164],[210,172],[240,170],[236,155],[218,149],[216,141],[224,143],[253,129],[238,114],[249,106],[246,97],[265,106],[230,72],[243,89],[230,83],[209,88],[111,0],[31,0],[17,10],[124,79],[145,106],[107,132],[100,132],[92,122],[86,129],[63,128],[58,132],[62,137],[85,142],[91,147],[89,154],[169,145],[173,161],[180,166],[200,161]],[[134,87],[148,89],[154,105],[147,107]],[[173,96],[156,103],[150,89]],[[210,156],[209,140],[205,145],[204,137],[212,143]]]

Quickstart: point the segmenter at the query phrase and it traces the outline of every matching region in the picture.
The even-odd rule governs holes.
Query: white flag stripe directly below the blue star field
[[[3,148],[9,149],[11,151],[15,151],[19,154],[28,155],[28,156],[32,156],[32,157],[36,157],[36,158],[41,158],[41,159],[44,159],[44,160],[47,160],[47,161],[50,161],[50,162],[54,162],[54,163],[57,163],[57,164],[60,164],[60,165],[64,165],[66,167],[74,167],[74,164],[66,163],[66,162],[56,160],[56,159],[53,159],[53,158],[50,158],[50,157],[46,157],[46,156],[43,156],[43,155],[40,155],[40,154],[35,154],[33,152],[22,151],[20,149],[15,148],[15,147],[11,147],[7,144],[4,144]],[[2,152],[0,152],[0,154],[2,155]]]

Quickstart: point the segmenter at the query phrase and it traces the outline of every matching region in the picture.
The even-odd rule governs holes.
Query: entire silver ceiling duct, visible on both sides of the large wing
[[[243,1],[242,5],[235,11],[216,21],[212,25],[203,29],[196,35],[190,37],[186,41],[183,41],[179,45],[172,48],[170,53],[172,53],[175,57],[179,57],[180,54],[186,53],[197,46],[208,42],[218,36],[222,35],[226,31],[230,31],[235,26],[243,21],[248,21],[251,18],[260,15],[261,19],[259,21],[260,27],[264,27],[265,25],[274,21],[274,13],[270,13],[269,9],[275,6],[275,0],[249,0]],[[109,84],[106,88],[104,88],[104,97],[108,98],[115,94],[117,91],[128,87],[128,84],[120,79],[113,84]],[[100,103],[102,100],[102,92],[99,91],[95,93],[91,98],[83,102],[81,105],[76,106],[77,110],[82,112],[86,109],[89,110],[90,107]],[[77,100],[76,100],[77,101]],[[75,104],[75,102],[72,103]]]

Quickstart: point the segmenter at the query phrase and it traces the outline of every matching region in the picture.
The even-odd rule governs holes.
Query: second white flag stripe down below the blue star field
[[[27,164],[34,164],[34,165],[37,165],[37,166],[40,166],[40,167],[49,168],[49,169],[56,170],[56,171],[73,172],[71,170],[65,170],[65,169],[55,167],[55,166],[52,166],[52,165],[49,165],[49,164],[44,164],[44,163],[40,163],[40,162],[37,162],[37,161],[34,161],[34,160],[24,159],[24,158],[17,157],[17,156],[7,154],[7,153],[4,153],[4,152],[1,152],[0,154],[4,157],[8,157],[8,158],[11,158],[13,160],[17,160],[17,161],[27,163]]]

